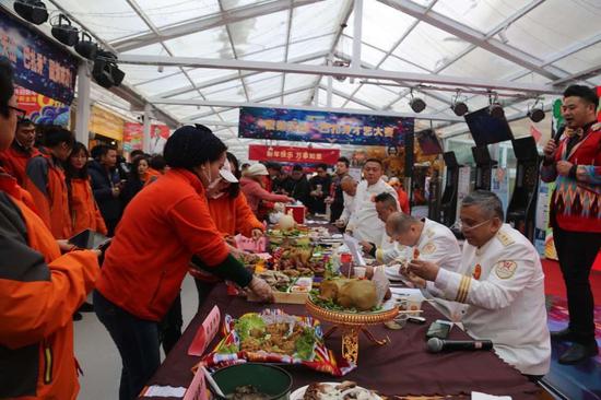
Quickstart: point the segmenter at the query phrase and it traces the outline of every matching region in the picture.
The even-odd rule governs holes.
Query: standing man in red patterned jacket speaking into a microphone
[[[564,92],[566,129],[544,148],[543,181],[555,181],[551,199],[553,240],[567,290],[569,326],[552,332],[574,344],[559,357],[576,364],[598,353],[589,274],[601,245],[601,123],[599,97],[587,86]]]

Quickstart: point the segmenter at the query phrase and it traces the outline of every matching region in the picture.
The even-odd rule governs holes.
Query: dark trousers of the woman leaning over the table
[[[119,400],[135,399],[161,365],[158,326],[140,319],[94,291],[94,310],[121,355]]]

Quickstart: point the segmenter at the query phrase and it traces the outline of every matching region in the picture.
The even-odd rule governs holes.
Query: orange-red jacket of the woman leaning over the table
[[[158,321],[179,293],[192,255],[216,267],[228,254],[200,179],[169,169],[126,208],[96,289],[138,318]]]

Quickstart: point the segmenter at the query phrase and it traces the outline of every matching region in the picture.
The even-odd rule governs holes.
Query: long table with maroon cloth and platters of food
[[[308,240],[297,232],[296,236],[291,234],[288,237],[275,232],[270,252],[275,256],[276,263],[260,262],[256,273],[273,268],[279,272],[296,270],[288,271],[285,282],[272,281],[284,293],[280,298],[284,303],[249,302],[244,296],[232,295],[224,283],[215,285],[148,385],[187,388],[200,362],[212,372],[238,363],[261,362],[287,370],[292,376],[292,390],[311,384],[315,387],[317,383],[351,381],[352,386],[372,390],[376,396],[374,399],[378,396],[470,398],[472,391],[511,396],[512,399],[538,398],[540,388],[492,351],[428,352],[427,328],[431,322],[445,317],[427,302],[422,303],[421,311],[415,314],[425,318],[425,323],[404,319],[401,329],[390,329],[389,323],[394,318],[390,317],[391,313],[403,315],[409,311],[400,310],[394,298],[372,306],[373,303],[362,304],[362,297],[358,306],[344,303],[345,308],[319,296],[329,293],[319,289],[327,286],[325,282],[331,285],[331,281],[339,279],[346,279],[341,284],[337,282],[340,292],[343,292],[340,287],[349,284],[354,285],[353,293],[363,291],[360,287],[363,280],[337,277],[338,267],[332,268],[329,259],[332,257],[330,246],[323,245],[329,240],[328,231],[331,232],[317,230],[319,238],[316,238],[314,230],[313,235],[306,235],[310,236]],[[282,256],[283,252],[286,255]],[[319,262],[320,258],[325,261]],[[294,261],[287,261],[291,259]],[[314,285],[307,289],[303,280],[299,281],[302,278],[313,279]],[[292,287],[295,287],[294,293]],[[305,297],[299,297],[309,291]],[[332,307],[329,308],[328,304]],[[189,355],[190,344],[214,306],[221,314],[220,331],[202,356]],[[321,313],[316,313],[316,309]],[[347,314],[351,316],[346,317]],[[381,322],[384,320],[387,320],[386,325]],[[352,343],[353,338],[356,343]],[[448,339],[470,338],[459,327],[453,327]],[[350,354],[349,349],[351,353],[354,350],[354,354]],[[320,397],[308,396],[307,391],[305,399]]]

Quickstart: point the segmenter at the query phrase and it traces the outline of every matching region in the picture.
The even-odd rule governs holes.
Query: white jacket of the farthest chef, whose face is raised
[[[386,227],[378,217],[376,203],[374,202],[375,197],[382,192],[392,195],[397,203],[399,202],[397,191],[381,179],[372,186],[367,186],[367,180],[362,180],[358,184],[355,195],[355,210],[346,225],[346,230],[352,231],[353,237],[357,240],[375,244],[382,242]]]

